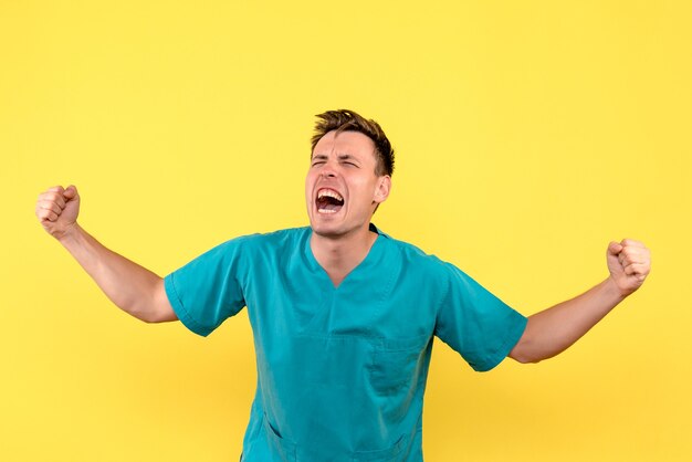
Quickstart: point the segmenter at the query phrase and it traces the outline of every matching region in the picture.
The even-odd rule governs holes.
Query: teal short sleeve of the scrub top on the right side
[[[445,265],[449,286],[438,311],[436,335],[474,370],[490,370],[514,348],[527,319],[454,265]]]

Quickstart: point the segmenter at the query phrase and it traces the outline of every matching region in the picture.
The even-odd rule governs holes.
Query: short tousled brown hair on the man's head
[[[319,118],[315,123],[315,134],[312,137],[313,151],[317,141],[322,139],[328,132],[359,132],[366,135],[375,144],[375,154],[377,155],[377,167],[375,175],[382,176],[394,172],[394,149],[389,139],[379,124],[373,119],[366,119],[359,114],[348,109],[327,111],[317,114]]]

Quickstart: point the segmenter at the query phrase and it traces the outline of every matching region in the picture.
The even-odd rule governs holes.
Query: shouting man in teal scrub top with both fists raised
[[[574,344],[649,274],[632,240],[610,242],[609,277],[526,318],[470,276],[370,223],[391,188],[394,150],[350,111],[321,114],[305,179],[308,228],[228,241],[165,279],[76,222],[74,186],[36,216],[120,308],[208,335],[248,307],[258,389],[244,461],[421,461],[433,336],[476,370],[536,363]]]

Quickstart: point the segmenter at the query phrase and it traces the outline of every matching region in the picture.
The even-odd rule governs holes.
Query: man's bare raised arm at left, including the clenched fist
[[[119,308],[147,323],[177,319],[161,277],[106,249],[80,227],[80,195],[74,186],[56,186],[41,193],[35,212],[43,229],[67,249]]]

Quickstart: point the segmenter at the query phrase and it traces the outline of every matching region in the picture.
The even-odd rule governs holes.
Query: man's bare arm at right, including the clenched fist
[[[538,363],[564,351],[637,291],[651,270],[649,249],[631,239],[610,242],[607,262],[610,275],[606,281],[530,316],[524,334],[508,356],[520,363]]]

